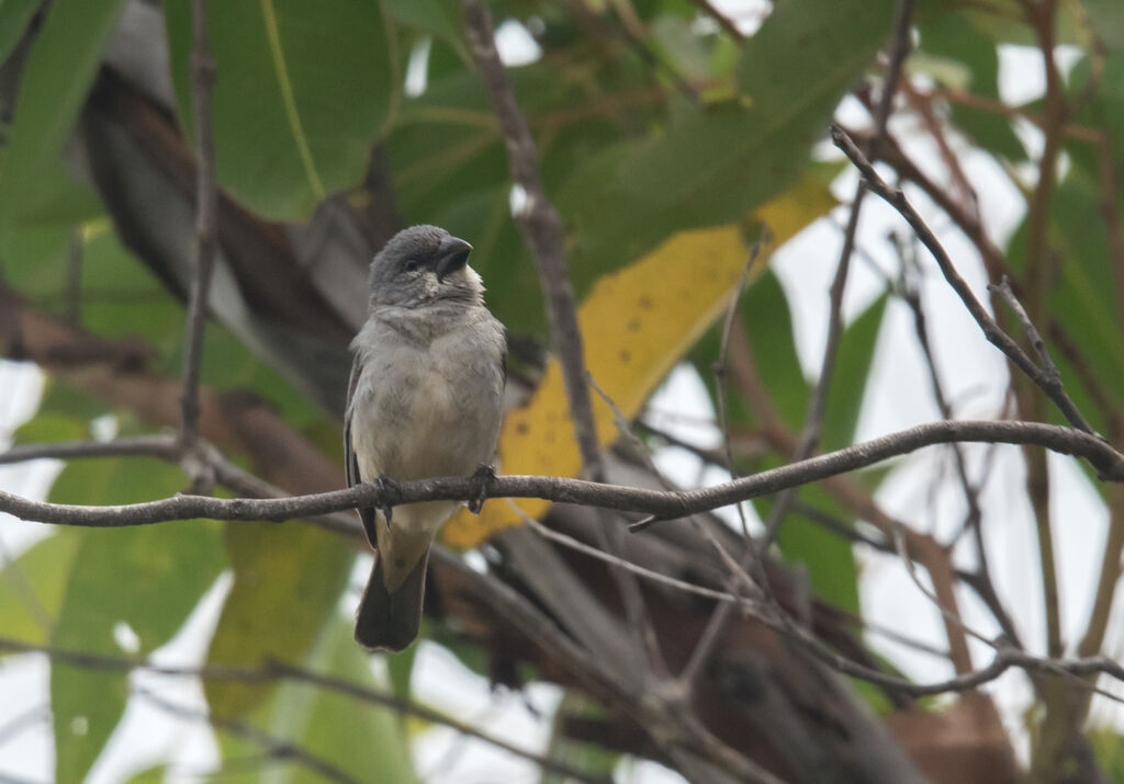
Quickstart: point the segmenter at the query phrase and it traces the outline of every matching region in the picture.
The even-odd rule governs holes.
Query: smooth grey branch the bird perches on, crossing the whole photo
[[[536,498],[637,514],[655,514],[660,519],[671,520],[865,468],[922,447],[953,441],[1041,446],[1088,461],[1105,481],[1124,482],[1124,454],[1096,436],[1058,425],[964,420],[919,425],[844,449],[699,490],[646,490],[562,476],[498,476],[489,490],[489,495]],[[374,485],[356,485],[347,490],[281,499],[175,495],[160,501],[105,507],[46,503],[0,492],[0,511],[22,520],[60,526],[119,528],[196,518],[282,521],[386,503],[468,501],[475,498],[475,492],[472,483],[464,477],[404,482],[397,491]]]

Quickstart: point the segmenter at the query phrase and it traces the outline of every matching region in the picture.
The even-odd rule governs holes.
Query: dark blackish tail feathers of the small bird
[[[393,593],[382,581],[382,558],[375,555],[371,580],[359,603],[355,619],[355,641],[365,648],[405,650],[417,639],[422,628],[422,604],[425,600],[425,571],[429,553],[425,554],[406,581]]]

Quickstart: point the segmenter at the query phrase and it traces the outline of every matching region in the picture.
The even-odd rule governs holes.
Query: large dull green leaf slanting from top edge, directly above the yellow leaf
[[[790,185],[883,44],[891,10],[888,0],[778,2],[743,48],[741,100],[676,111],[665,131],[588,157],[560,190],[578,263],[613,268]]]

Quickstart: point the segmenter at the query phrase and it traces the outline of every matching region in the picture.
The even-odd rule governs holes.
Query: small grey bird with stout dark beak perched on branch
[[[347,485],[472,474],[480,503],[491,476],[506,376],[504,326],[488,311],[472,246],[436,226],[395,235],[371,262],[366,322],[344,418]],[[475,472],[475,473],[473,473]],[[355,639],[402,650],[418,635],[429,547],[461,504],[360,509],[375,565]]]

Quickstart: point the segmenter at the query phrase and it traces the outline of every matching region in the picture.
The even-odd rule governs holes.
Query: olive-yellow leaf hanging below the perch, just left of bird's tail
[[[225,540],[234,587],[211,639],[208,664],[300,662],[335,614],[354,548],[299,522],[232,523]],[[223,718],[245,714],[272,690],[224,681],[205,684],[211,712]]]

